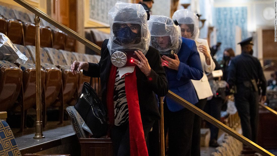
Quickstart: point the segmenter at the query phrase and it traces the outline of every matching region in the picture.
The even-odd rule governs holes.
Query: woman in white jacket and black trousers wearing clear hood
[[[210,55],[210,48],[207,40],[199,39],[199,19],[195,13],[188,9],[181,9],[174,12],[172,18],[177,19],[181,27],[182,37],[192,39],[196,42],[197,50],[201,58],[203,77],[201,80],[191,80],[198,96],[198,103],[195,104],[200,109],[204,109],[207,98],[212,96],[212,90],[209,85],[207,73],[211,73],[216,67]],[[193,135],[191,144],[191,155],[200,156],[200,126],[201,117],[195,116],[193,122]]]

